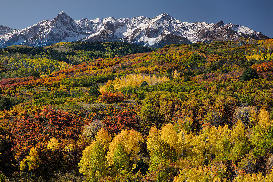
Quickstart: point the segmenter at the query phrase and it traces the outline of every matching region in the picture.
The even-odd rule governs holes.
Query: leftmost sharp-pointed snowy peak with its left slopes
[[[61,12],[53,20],[43,20],[23,30],[0,36],[0,47],[9,45],[47,46],[55,42],[77,41],[88,36],[75,20]]]

